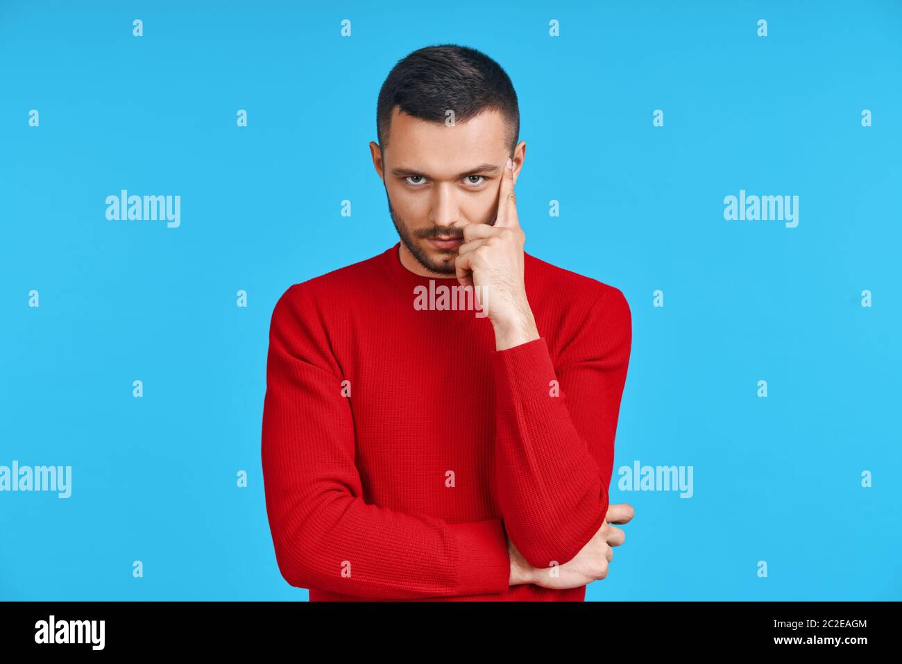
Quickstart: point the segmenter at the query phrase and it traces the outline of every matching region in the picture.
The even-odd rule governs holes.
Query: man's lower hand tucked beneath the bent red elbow
[[[612,547],[619,547],[626,540],[626,533],[611,523],[628,523],[635,514],[632,505],[617,503],[609,505],[603,526],[592,536],[583,549],[572,560],[563,565],[540,569],[532,567],[520,556],[520,552],[508,542],[511,554],[511,586],[528,583],[543,588],[577,588],[591,584],[608,575],[609,564],[614,557]]]

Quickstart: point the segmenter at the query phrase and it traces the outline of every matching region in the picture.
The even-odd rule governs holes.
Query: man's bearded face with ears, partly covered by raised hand
[[[424,276],[454,276],[464,227],[494,224],[498,213],[509,156],[502,115],[485,111],[447,126],[402,114],[395,106],[389,134],[384,151],[378,143],[370,143],[370,150],[400,236],[400,261]],[[523,142],[514,151],[514,181],[525,151]]]

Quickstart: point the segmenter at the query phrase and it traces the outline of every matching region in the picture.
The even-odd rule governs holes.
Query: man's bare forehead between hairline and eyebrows
[[[507,153],[506,134],[502,115],[495,109],[450,126],[400,113],[395,106],[385,157],[391,168],[455,177],[475,164],[503,160]]]

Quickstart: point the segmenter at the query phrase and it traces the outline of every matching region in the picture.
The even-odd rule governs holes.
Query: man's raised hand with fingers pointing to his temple
[[[495,347],[504,350],[538,339],[536,320],[523,282],[526,234],[517,217],[513,193],[513,162],[508,159],[498,191],[494,226],[464,226],[464,244],[455,259],[457,281],[474,286],[480,307],[492,321]]]

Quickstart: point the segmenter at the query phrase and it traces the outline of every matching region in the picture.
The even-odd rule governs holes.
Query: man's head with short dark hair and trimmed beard
[[[379,143],[370,143],[401,263],[427,276],[453,276],[468,224],[494,224],[504,164],[516,179],[526,143],[511,78],[480,51],[443,44],[413,51],[382,83]]]

